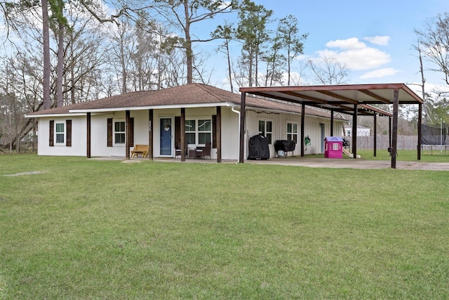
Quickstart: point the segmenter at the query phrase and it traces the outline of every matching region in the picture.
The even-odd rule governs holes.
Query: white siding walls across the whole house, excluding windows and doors
[[[186,118],[201,119],[211,118],[216,115],[215,107],[206,108],[187,108]],[[180,109],[154,110],[154,145],[153,155],[159,157],[159,124],[161,117],[173,117],[173,126],[175,117],[180,116]],[[130,117],[134,118],[134,144],[149,144],[149,113],[148,110],[131,111]],[[111,157],[126,156],[124,145],[113,145],[107,147],[107,119],[124,120],[125,112],[111,112],[108,115],[92,115],[91,117],[91,156],[92,157]],[[55,122],[72,119],[72,147],[48,146],[49,122],[54,119]],[[259,131],[258,121],[272,121],[272,145],[269,145],[270,156],[276,157],[274,151],[274,142],[276,140],[287,139],[287,123],[297,123],[298,143],[293,155],[300,155],[300,115],[287,115],[279,113],[255,112],[247,110],[246,112],[246,134],[245,134],[245,159],[248,157],[248,141],[251,136],[255,136]],[[321,136],[321,126],[325,126],[325,134]],[[340,136],[342,122],[334,123],[334,135]],[[213,129],[214,130],[214,129]],[[175,141],[175,131],[173,130],[173,148]],[[305,155],[321,152],[321,141],[324,137],[330,135],[330,119],[307,116],[304,123],[304,135],[309,136],[311,145],[304,151]],[[71,155],[86,156],[86,117],[58,117],[58,118],[40,118],[39,119],[39,155]],[[190,146],[190,148],[194,148]],[[288,153],[291,155],[291,152]],[[217,150],[211,151],[211,159],[217,158]],[[222,159],[239,158],[239,115],[232,112],[230,107],[222,107]]]

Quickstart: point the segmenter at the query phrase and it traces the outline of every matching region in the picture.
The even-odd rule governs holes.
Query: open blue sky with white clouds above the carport
[[[295,15],[300,32],[309,33],[302,59],[337,57],[349,68],[349,84],[420,83],[419,60],[412,48],[416,41],[414,30],[421,29],[425,20],[438,13],[449,12],[448,0],[255,0],[255,3],[274,11],[274,18]],[[443,84],[441,75],[427,72],[425,76],[429,88]]]

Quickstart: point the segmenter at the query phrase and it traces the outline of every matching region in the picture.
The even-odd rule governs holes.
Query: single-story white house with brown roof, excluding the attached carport
[[[175,148],[192,150],[210,143],[210,159],[239,159],[241,96],[204,84],[138,91],[27,114],[39,119],[38,155],[130,157],[134,145],[149,145],[149,157],[175,157]],[[343,117],[295,103],[246,97],[244,153],[257,134],[274,143],[292,140],[300,151],[300,124],[310,139],[305,154],[324,152],[331,128],[342,135]],[[331,126],[330,120],[333,120]],[[182,126],[183,124],[183,126]],[[188,153],[188,151],[185,151]],[[188,154],[187,154],[188,156]],[[209,157],[208,157],[209,158]],[[185,159],[182,156],[182,159]]]

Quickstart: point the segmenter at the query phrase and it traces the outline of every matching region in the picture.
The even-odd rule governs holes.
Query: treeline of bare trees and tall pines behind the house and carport
[[[309,35],[300,20],[274,19],[273,11],[250,0],[21,0],[2,1],[0,9],[0,151],[36,149],[36,120],[26,119],[27,112],[119,93],[192,82],[234,92],[349,83],[347,67],[335,58],[297,59]],[[448,55],[448,27],[447,14],[429,20],[416,31],[414,46],[417,68],[429,60],[449,86],[448,60],[429,51],[443,43],[440,54]],[[218,57],[226,78],[217,79],[210,67]],[[444,94],[423,92],[427,122],[445,119]],[[407,107],[402,117],[403,133],[413,133],[408,124],[417,112]]]

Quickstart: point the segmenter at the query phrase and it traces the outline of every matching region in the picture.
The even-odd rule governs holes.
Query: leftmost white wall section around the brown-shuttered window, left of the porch
[[[50,121],[65,122],[67,119],[72,120],[72,146],[48,145],[50,135]],[[67,133],[67,127],[65,127]],[[86,117],[69,116],[69,117],[45,117],[39,118],[39,136],[38,136],[38,155],[58,155],[58,156],[86,156]],[[67,136],[65,137],[67,141]]]

